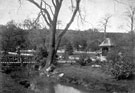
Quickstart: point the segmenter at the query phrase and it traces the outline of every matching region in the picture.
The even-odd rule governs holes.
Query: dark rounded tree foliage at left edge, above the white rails
[[[16,51],[16,47],[28,48],[27,31],[24,31],[14,24],[8,24],[2,28],[1,49],[4,51]]]

